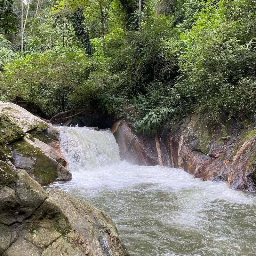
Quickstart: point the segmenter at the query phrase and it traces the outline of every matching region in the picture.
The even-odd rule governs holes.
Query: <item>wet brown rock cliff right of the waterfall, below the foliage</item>
[[[136,135],[123,120],[112,132],[122,158],[134,164],[181,168],[195,178],[226,181],[229,188],[256,190],[256,130],[247,120],[212,130],[200,116],[190,116],[155,138]]]

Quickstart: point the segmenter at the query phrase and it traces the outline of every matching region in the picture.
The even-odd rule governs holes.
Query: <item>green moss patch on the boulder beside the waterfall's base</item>
[[[18,151],[22,156],[34,158],[32,166],[33,173],[42,186],[48,185],[57,180],[57,170],[53,167],[51,160],[44,152],[26,141],[17,141],[12,145],[12,151]]]

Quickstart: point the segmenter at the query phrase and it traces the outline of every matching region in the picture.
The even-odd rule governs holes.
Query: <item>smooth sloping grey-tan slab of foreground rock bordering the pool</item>
[[[114,222],[107,214],[58,189],[51,189],[49,198],[57,202],[71,225],[90,244],[95,255],[128,255]]]

